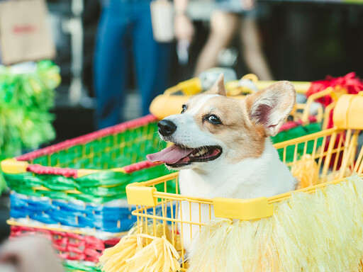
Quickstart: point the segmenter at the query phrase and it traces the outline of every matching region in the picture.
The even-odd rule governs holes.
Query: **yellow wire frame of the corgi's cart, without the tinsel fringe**
[[[325,90],[325,93],[320,95],[323,96],[330,91],[332,90]],[[216,217],[258,220],[259,218],[272,216],[274,203],[290,198],[291,193],[314,193],[318,188],[325,188],[330,184],[343,181],[345,177],[354,172],[363,176],[363,147],[360,150],[357,149],[359,132],[363,130],[363,95],[342,95],[335,104],[335,128],[274,145],[281,152],[282,161],[289,166],[291,171],[294,171],[296,166],[301,165],[301,162],[315,164],[316,169],[318,169],[317,183],[278,196],[248,200],[182,196],[178,192],[178,173],[143,183],[132,183],[127,187],[127,197],[130,204],[136,205],[136,210],[132,214],[137,216],[138,231],[153,235],[156,233],[157,222],[162,222],[164,233],[166,233],[167,228],[171,231],[172,244],[180,251],[183,261],[181,271],[186,271],[183,228],[201,228],[205,225],[201,222],[201,207],[203,205],[208,206],[206,210],[209,210],[210,219],[212,212],[214,212]],[[287,159],[288,153],[290,155],[289,159]],[[305,171],[312,170],[308,168]],[[175,190],[172,192],[167,191],[167,188],[171,188],[171,186],[167,186],[169,183],[175,185]],[[164,185],[164,191],[157,191],[155,187],[162,188],[162,184]],[[178,208],[181,203],[189,203],[189,210],[191,210],[192,205],[196,210],[199,207],[199,220],[192,219],[191,212],[181,214],[181,209]],[[161,214],[157,214],[156,208],[161,208],[158,209],[162,210]],[[177,215],[178,212],[179,215]],[[145,225],[151,225],[152,228],[145,228]],[[192,239],[191,231],[190,235]]]

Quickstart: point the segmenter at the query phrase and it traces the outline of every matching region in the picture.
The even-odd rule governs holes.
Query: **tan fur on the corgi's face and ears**
[[[264,96],[266,92],[274,92],[274,95],[282,95],[284,85],[288,88],[289,82],[277,85],[272,84],[267,89],[247,96],[245,100],[240,101],[225,96],[225,88],[223,81],[218,80],[216,84],[207,91],[206,94],[218,94],[219,96],[211,98],[195,115],[194,120],[201,130],[208,130],[216,138],[223,140],[231,150],[235,150],[233,154],[228,154],[228,163],[235,164],[242,159],[258,158],[264,151],[264,138],[270,136],[265,125],[255,120],[251,115],[252,106],[256,101]],[[283,88],[281,88],[281,86]],[[192,97],[186,104],[189,110],[199,105],[203,95]],[[291,96],[291,99],[295,99]],[[286,99],[278,105],[285,111],[291,107],[291,100]],[[204,120],[207,115],[217,115],[220,118],[221,125],[213,125]]]

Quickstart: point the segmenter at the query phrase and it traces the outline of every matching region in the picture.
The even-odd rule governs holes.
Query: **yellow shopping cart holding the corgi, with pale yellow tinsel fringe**
[[[363,180],[360,176],[349,181],[344,178],[354,172],[363,172],[363,148],[359,149],[358,142],[363,130],[362,116],[363,96],[343,95],[335,107],[335,128],[274,145],[281,160],[300,181],[302,188],[294,192],[250,200],[181,196],[178,191],[178,173],[128,185],[128,203],[136,205],[133,215],[137,217],[137,224],[130,236],[101,257],[104,270],[186,271],[189,260],[186,259],[183,240],[185,229],[189,228],[190,231],[186,233],[191,236],[191,240],[199,239],[196,244],[201,247],[196,249],[194,259],[190,260],[190,271],[218,271],[213,269],[232,267],[233,261],[225,260],[227,253],[230,254],[227,259],[238,260],[238,271],[358,271],[363,259],[363,244],[358,239],[363,238],[363,212],[360,212],[362,207],[346,207],[350,203],[363,204]],[[175,189],[169,191],[168,188]],[[189,212],[179,212],[182,202],[189,203]],[[201,222],[201,216],[199,220],[191,218],[192,203],[194,207],[199,207],[199,214],[203,205],[208,206],[210,219],[217,217],[220,221],[213,221],[203,227],[206,224]],[[305,213],[311,212],[315,205],[319,207],[313,210],[315,212]],[[296,220],[296,217],[301,221]],[[239,221],[233,223],[231,219]],[[281,222],[287,226],[284,225],[286,232]],[[296,222],[300,222],[299,225],[295,225]],[[330,225],[326,222],[330,222]],[[349,229],[353,225],[355,227]],[[199,237],[193,236],[191,229],[194,227],[200,229]],[[233,227],[236,228],[231,230]],[[261,228],[266,233],[261,232]],[[267,232],[267,229],[273,231]],[[315,229],[318,234],[309,232],[311,229]],[[290,237],[288,230],[296,234]],[[306,232],[309,234],[306,235]],[[220,236],[214,235],[216,233]],[[228,238],[230,233],[235,233],[237,237]],[[277,234],[281,234],[280,237],[276,238]],[[299,240],[298,235],[305,238]],[[241,236],[244,239],[240,239]],[[231,250],[228,246],[233,243],[222,243],[218,239],[215,244],[211,241],[204,243],[205,237],[240,239],[241,244],[238,250]],[[323,239],[323,243],[318,239]],[[305,251],[299,251],[300,255],[295,256],[294,252],[299,248],[296,244]],[[333,259],[328,258],[325,249],[331,249],[329,254],[332,254]],[[220,254],[218,258],[216,254]],[[238,254],[245,254],[243,256],[250,259],[238,257]],[[115,263],[113,256],[123,257],[123,261]],[[300,259],[296,261],[297,258]],[[337,270],[332,268],[335,266]],[[294,270],[296,267],[298,270]],[[123,270],[126,268],[128,270]],[[219,271],[233,270],[223,268]]]

